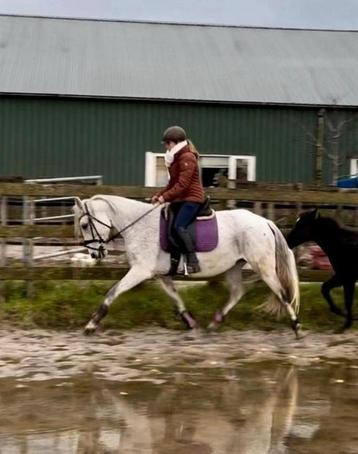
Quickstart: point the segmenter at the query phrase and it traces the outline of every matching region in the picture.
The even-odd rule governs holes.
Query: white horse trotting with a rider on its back
[[[94,332],[109,306],[122,293],[141,282],[157,278],[174,301],[179,314],[189,328],[197,326],[177,293],[173,278],[166,276],[170,267],[169,253],[160,247],[158,206],[118,196],[96,195],[90,199],[76,199],[75,225],[84,238],[91,256],[101,259],[107,245],[121,234],[130,269],[106,294],[104,302],[85,327]],[[217,327],[244,294],[242,267],[248,263],[272,290],[263,304],[266,311],[278,316],[287,311],[292,328],[299,336],[299,281],[295,259],[285,238],[276,225],[250,211],[224,210],[216,213],[219,241],[211,252],[198,253],[201,271],[196,279],[224,275],[230,295],[223,308],[214,315],[210,328]],[[117,232],[117,233],[114,233]],[[178,272],[183,271],[183,263]],[[190,279],[191,276],[189,276]]]

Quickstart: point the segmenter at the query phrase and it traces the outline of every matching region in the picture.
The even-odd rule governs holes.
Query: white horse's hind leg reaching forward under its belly
[[[242,266],[243,263],[237,263],[233,268],[225,273],[225,280],[229,287],[229,299],[222,309],[215,312],[214,317],[209,329],[216,329],[224,321],[225,316],[231,309],[236,306],[240,298],[245,293],[244,286],[242,284]]]

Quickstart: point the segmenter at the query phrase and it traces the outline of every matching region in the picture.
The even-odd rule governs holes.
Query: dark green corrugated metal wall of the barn
[[[182,125],[201,153],[256,155],[258,181],[311,182],[318,109],[82,98],[0,98],[0,175],[102,174],[142,185],[145,151]],[[342,147],[357,142],[352,129]],[[347,149],[347,150],[346,150]],[[329,169],[327,168],[327,171]],[[342,173],[348,172],[348,164]]]

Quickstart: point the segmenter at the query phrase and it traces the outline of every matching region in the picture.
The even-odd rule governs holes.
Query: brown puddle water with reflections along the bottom
[[[4,379],[0,452],[357,452],[354,366],[183,368],[171,377],[162,385],[91,375],[26,384]]]

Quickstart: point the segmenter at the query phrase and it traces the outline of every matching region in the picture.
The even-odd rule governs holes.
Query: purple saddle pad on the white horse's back
[[[213,213],[213,216],[199,218],[194,221],[196,252],[209,252],[218,245],[218,223],[216,214],[215,212]],[[163,212],[160,215],[160,247],[164,251],[169,252],[168,221]]]

